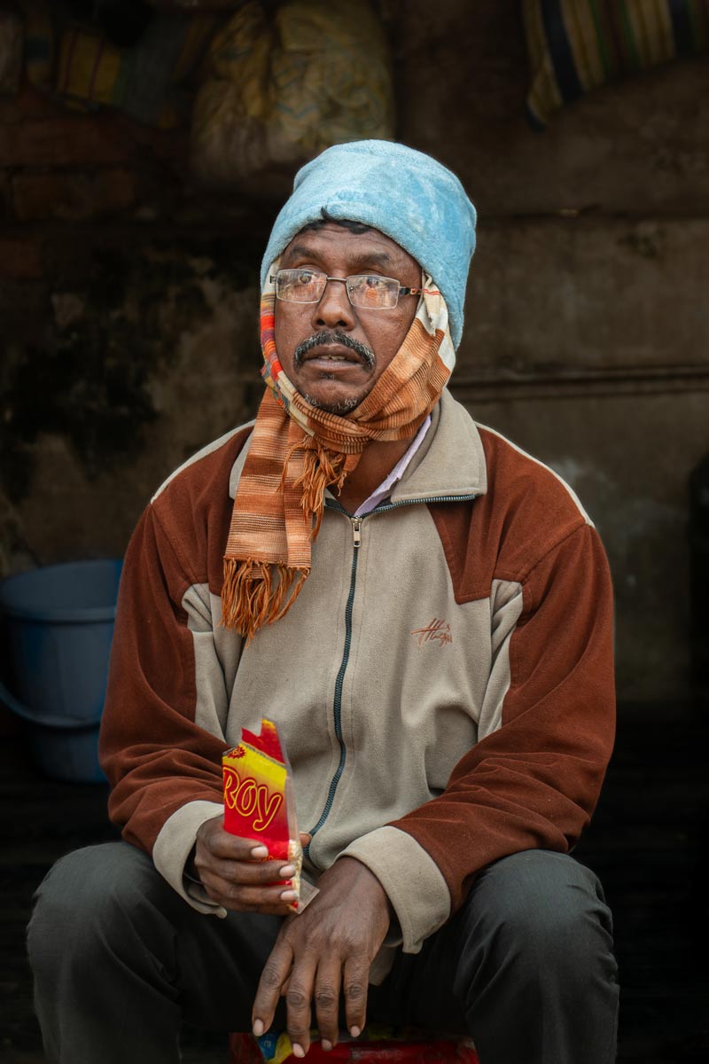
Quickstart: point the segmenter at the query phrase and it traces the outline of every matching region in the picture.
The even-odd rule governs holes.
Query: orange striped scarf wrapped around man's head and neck
[[[275,267],[274,267],[275,270]],[[431,278],[424,288],[433,288]],[[310,571],[325,488],[339,491],[373,440],[412,436],[438,402],[455,353],[443,297],[427,293],[404,342],[345,417],[311,406],[278,362],[272,285],[261,297],[267,389],[239,479],[224,554],[222,622],[251,639],[291,608]]]

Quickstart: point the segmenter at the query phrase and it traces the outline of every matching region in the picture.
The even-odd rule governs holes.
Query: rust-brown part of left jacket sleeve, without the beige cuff
[[[195,653],[182,604],[193,582],[149,506],[125,555],[99,747],[111,819],[148,852],[182,805],[221,801],[226,744],[195,722]]]

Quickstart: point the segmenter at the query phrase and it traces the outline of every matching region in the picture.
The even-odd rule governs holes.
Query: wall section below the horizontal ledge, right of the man
[[[689,697],[686,477],[709,449],[707,405],[707,393],[472,403],[478,420],[564,477],[595,522],[613,573],[626,699]]]

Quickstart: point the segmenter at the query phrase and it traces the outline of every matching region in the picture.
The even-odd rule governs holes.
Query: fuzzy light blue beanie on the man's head
[[[326,148],[296,174],[266,248],[261,287],[293,236],[322,219],[322,207],[332,218],[378,229],[416,259],[443,293],[457,348],[475,250],[475,207],[456,176],[431,155],[390,140]]]

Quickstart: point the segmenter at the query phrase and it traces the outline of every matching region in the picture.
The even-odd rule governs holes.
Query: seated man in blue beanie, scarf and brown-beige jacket
[[[255,423],[126,554],[101,737],[124,842],[40,888],[50,1061],[172,1064],[183,1017],[275,1017],[303,1057],[366,1016],[468,1031],[482,1064],[613,1059],[610,917],[569,857],[612,744],[608,571],[570,488],[445,390],[474,225],[401,145],[298,174]],[[319,887],[298,915],[270,885],[292,866],[222,828],[222,752],[261,716]]]

